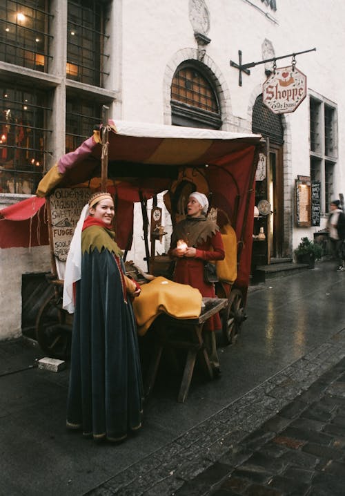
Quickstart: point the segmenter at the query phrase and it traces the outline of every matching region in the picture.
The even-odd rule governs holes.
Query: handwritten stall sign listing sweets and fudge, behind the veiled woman
[[[59,188],[49,197],[52,249],[61,261],[67,259],[75,227],[90,193],[88,188]]]

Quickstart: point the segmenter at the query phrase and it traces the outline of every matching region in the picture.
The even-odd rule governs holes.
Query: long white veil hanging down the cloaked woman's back
[[[70,250],[66,260],[65,279],[63,281],[62,307],[69,314],[75,311],[75,298],[73,296],[73,283],[81,278],[81,231],[83,223],[88,216],[89,204],[83,206],[75,233],[70,242]]]

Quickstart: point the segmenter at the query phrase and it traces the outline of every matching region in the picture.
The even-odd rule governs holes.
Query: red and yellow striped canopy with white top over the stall
[[[108,122],[108,191],[121,208],[176,188],[179,179],[201,171],[208,184],[210,203],[226,213],[243,249],[239,285],[247,285],[253,234],[254,179],[260,135],[137,122]],[[39,182],[37,197],[0,211],[0,217],[23,220],[41,208],[41,199],[57,187],[99,189],[101,184],[101,136],[95,131],[75,151],[63,155]],[[192,171],[192,172],[190,172]],[[193,172],[195,171],[195,172]],[[197,182],[196,182],[197,184]],[[19,204],[18,204],[19,205]],[[20,213],[20,217],[18,217]],[[0,239],[1,239],[0,222]],[[125,231],[130,231],[128,226]],[[124,233],[125,235],[125,233]],[[22,245],[21,245],[22,246]],[[242,270],[241,270],[242,268]]]

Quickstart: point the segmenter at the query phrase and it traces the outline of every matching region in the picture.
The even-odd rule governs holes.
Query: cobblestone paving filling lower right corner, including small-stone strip
[[[344,355],[345,330],[88,494],[344,495]]]

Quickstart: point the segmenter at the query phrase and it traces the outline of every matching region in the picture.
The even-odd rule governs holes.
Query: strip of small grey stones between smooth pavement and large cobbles
[[[86,495],[193,496],[188,481],[195,477],[205,477],[208,481],[214,479],[219,485],[221,479],[228,477],[233,470],[231,466],[219,463],[221,457],[246,438],[247,449],[238,453],[240,460],[237,462],[246,461],[253,454],[248,436],[275,417],[279,410],[288,406],[296,397],[308,395],[303,397],[304,401],[317,399],[320,392],[318,388],[313,391],[311,385],[344,356],[345,329],[164,448],[121,471],[97,488],[88,491]],[[322,379],[326,380],[326,376]],[[305,408],[306,404],[303,404]],[[262,432],[262,439],[257,439],[256,435],[253,443],[266,442],[269,434]],[[182,488],[184,484],[188,487],[187,493]],[[195,493],[196,496],[201,494]]]

